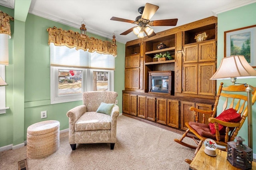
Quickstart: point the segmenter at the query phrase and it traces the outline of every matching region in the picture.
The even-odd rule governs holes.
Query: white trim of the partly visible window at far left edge
[[[5,81],[5,65],[0,65],[0,76]],[[6,113],[6,93],[5,93],[5,86],[0,87],[0,114]]]

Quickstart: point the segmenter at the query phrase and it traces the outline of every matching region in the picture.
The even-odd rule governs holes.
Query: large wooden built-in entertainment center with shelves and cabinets
[[[195,36],[204,32],[207,39],[196,42]],[[158,49],[160,43],[167,47]],[[216,49],[214,16],[127,42],[122,113],[153,125],[186,130],[185,123],[194,121],[190,107],[211,110],[214,105],[216,81],[210,77],[216,71]],[[154,61],[155,54],[166,51],[173,60]],[[149,92],[152,71],[174,71],[174,94]]]

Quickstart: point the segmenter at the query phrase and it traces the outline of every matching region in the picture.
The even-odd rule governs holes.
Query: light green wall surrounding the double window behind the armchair
[[[14,10],[0,7],[3,12],[14,16]],[[6,66],[6,82],[9,84],[6,87],[6,106],[10,109],[0,115],[0,147],[24,142],[26,129],[36,122],[57,120],[60,121],[60,130],[67,129],[66,112],[82,104],[82,101],[75,101],[50,105],[50,47],[46,29],[56,26],[75,32],[80,30],[32,14],[28,14],[26,22],[15,20],[10,24],[10,64]],[[89,32],[87,35],[111,41]],[[120,113],[124,90],[124,57],[125,44],[117,42],[114,91],[118,92]],[[41,119],[41,111],[47,111],[46,119]]]

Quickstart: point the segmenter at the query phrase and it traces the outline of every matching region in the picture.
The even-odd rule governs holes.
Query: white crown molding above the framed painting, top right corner
[[[222,12],[226,12],[226,11],[229,11],[229,10],[233,10],[235,8],[239,8],[241,6],[245,6],[245,5],[248,5],[248,4],[252,4],[252,3],[255,3],[256,0],[243,0],[243,1],[240,1],[240,2],[237,2],[235,4],[232,4],[232,5],[229,5],[229,6],[224,6],[222,8],[218,8],[216,10],[212,10],[212,14],[214,16],[218,16],[218,14],[222,13]]]

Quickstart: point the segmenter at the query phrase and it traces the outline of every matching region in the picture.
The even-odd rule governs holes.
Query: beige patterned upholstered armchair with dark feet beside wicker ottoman
[[[83,93],[83,105],[67,112],[69,118],[69,143],[72,150],[76,144],[110,143],[114,149],[116,142],[116,119],[119,107],[114,105],[109,114],[96,112],[102,104],[116,102],[117,93],[113,91],[89,91]],[[101,111],[102,112],[102,111]]]

